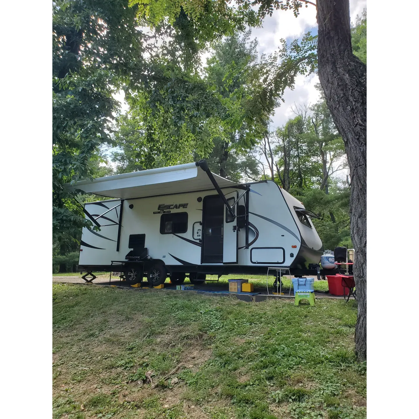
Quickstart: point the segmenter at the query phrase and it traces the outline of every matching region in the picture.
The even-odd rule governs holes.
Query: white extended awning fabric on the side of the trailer
[[[213,173],[220,188],[239,185]],[[67,189],[81,189],[84,192],[103,197],[132,199],[171,195],[185,192],[214,189],[207,173],[195,163],[143,170],[120,175],[96,178],[93,181],[78,181]]]

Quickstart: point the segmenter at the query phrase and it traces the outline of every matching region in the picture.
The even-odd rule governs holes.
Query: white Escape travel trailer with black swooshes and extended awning
[[[320,272],[317,215],[271,180],[240,184],[200,160],[67,187],[114,198],[84,204],[100,230],[83,228],[80,270],[123,272],[131,284],[145,276],[153,286],[268,267]]]

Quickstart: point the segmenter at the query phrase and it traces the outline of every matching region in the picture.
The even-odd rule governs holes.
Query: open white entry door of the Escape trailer
[[[237,205],[236,200],[238,198],[238,192],[230,192],[226,194],[230,207],[232,207],[233,212],[237,215]],[[222,263],[224,264],[233,264],[238,262],[238,233],[237,233],[237,217],[230,215],[227,207],[224,205],[224,238],[222,243]]]

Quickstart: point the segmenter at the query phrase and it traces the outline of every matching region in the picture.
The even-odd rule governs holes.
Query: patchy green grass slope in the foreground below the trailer
[[[53,418],[365,418],[355,304],[54,284]]]

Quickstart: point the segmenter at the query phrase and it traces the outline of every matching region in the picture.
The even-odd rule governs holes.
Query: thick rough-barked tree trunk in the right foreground
[[[351,237],[358,320],[355,350],[367,357],[367,66],[352,54],[349,0],[318,0],[318,77],[351,175]]]

